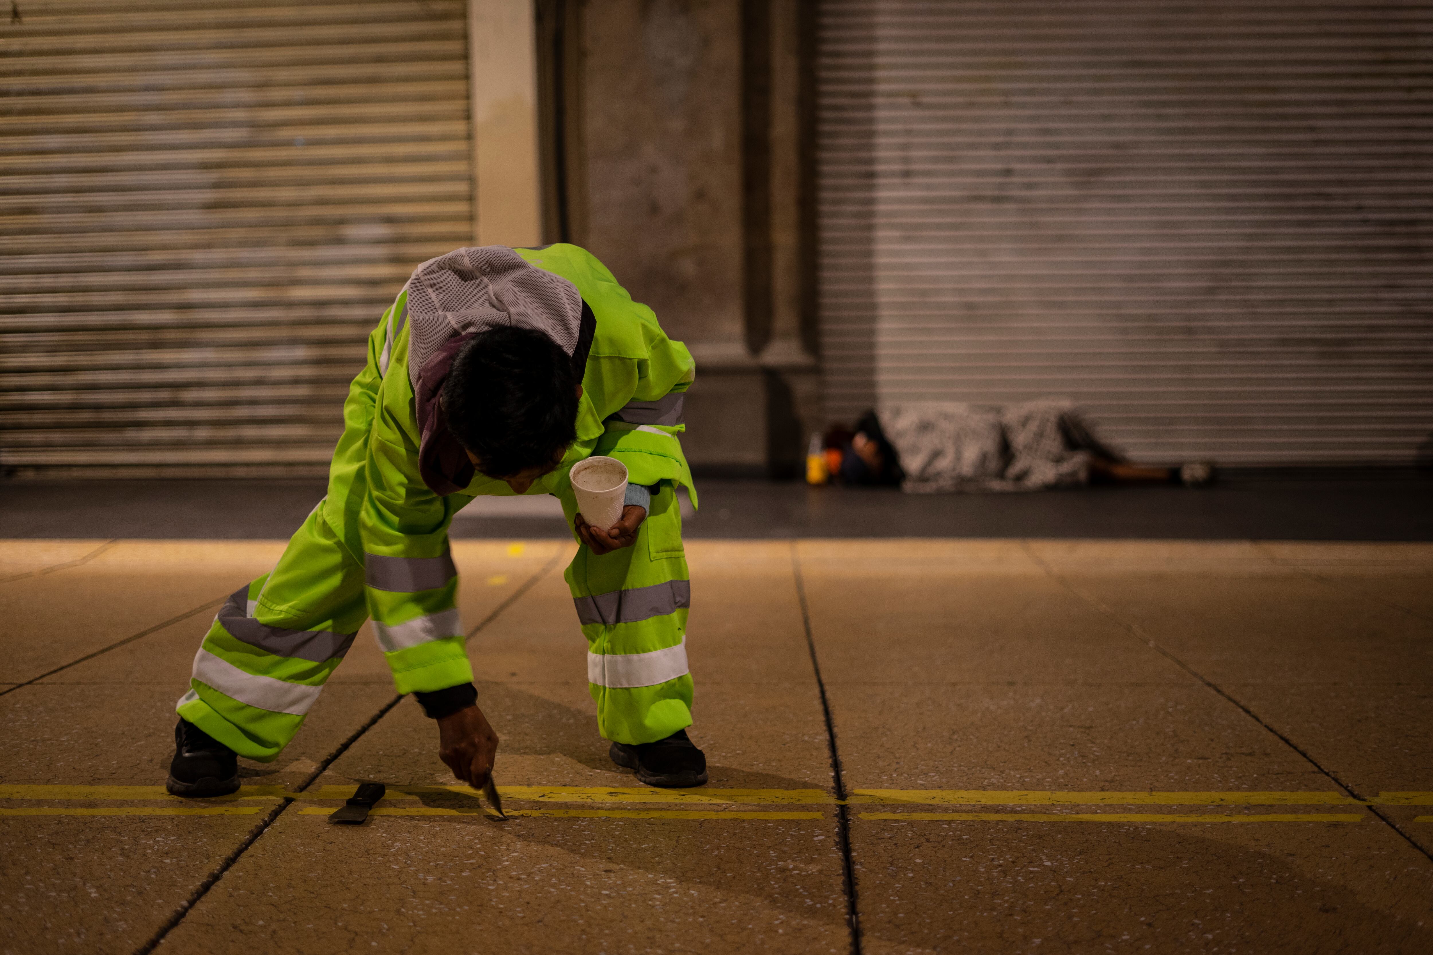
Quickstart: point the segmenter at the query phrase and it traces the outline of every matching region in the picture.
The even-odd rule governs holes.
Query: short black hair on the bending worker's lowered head
[[[577,440],[572,358],[530,328],[479,332],[453,358],[443,414],[459,444],[487,477],[549,467]]]

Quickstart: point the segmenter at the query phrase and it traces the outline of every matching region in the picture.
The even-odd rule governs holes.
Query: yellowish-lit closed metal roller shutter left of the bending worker
[[[473,235],[464,0],[19,0],[0,468],[322,472],[365,336]]]

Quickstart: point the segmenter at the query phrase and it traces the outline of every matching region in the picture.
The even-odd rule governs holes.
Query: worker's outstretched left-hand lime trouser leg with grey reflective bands
[[[315,510],[278,566],[219,609],[179,716],[241,756],[277,757],[367,617],[363,580]]]

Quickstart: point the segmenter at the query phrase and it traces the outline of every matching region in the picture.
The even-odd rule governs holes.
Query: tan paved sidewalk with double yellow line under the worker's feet
[[[1433,951],[1433,546],[689,541],[712,772],[663,792],[572,544],[454,541],[509,822],[367,627],[236,798],[162,793],[281,548],[0,541],[0,952]]]

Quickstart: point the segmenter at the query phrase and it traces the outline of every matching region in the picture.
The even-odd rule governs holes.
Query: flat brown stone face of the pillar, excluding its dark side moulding
[[[585,242],[669,332],[742,336],[735,3],[602,0],[585,43]]]

